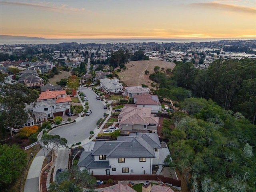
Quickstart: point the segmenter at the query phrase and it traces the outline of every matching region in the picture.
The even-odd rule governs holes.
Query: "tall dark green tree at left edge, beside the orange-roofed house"
[[[2,125],[10,127],[10,139],[12,139],[12,128],[20,126],[28,120],[25,104],[36,102],[38,92],[19,83],[6,84],[2,87],[1,92],[3,96],[0,100],[0,106],[3,108]]]

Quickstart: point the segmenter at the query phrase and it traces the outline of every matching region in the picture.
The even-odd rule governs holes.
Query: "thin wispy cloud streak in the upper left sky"
[[[78,8],[68,8],[64,4],[54,4],[50,2],[41,2],[40,4],[36,3],[26,3],[26,2],[11,2],[11,1],[0,1],[0,4],[2,5],[9,5],[9,6],[23,6],[23,7],[29,7],[36,10],[44,10],[44,11],[51,11],[51,12],[84,12],[85,9],[78,9]]]

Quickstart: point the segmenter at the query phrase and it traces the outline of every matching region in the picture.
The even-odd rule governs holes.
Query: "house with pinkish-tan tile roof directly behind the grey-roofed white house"
[[[151,114],[151,108],[124,106],[118,115],[120,130],[157,132],[159,118]]]

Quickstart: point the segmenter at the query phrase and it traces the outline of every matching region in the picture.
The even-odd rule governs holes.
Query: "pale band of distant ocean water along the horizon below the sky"
[[[190,43],[190,42],[210,42],[220,40],[250,40],[253,38],[226,38],[226,39],[24,39],[24,38],[0,38],[0,45],[14,44],[59,44],[63,42],[77,42],[78,44],[96,43],[96,44],[116,44],[116,43]]]

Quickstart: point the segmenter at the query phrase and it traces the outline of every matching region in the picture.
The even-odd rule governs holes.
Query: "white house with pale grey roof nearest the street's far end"
[[[122,83],[119,83],[119,79],[100,79],[100,86],[108,93],[122,92]]]

